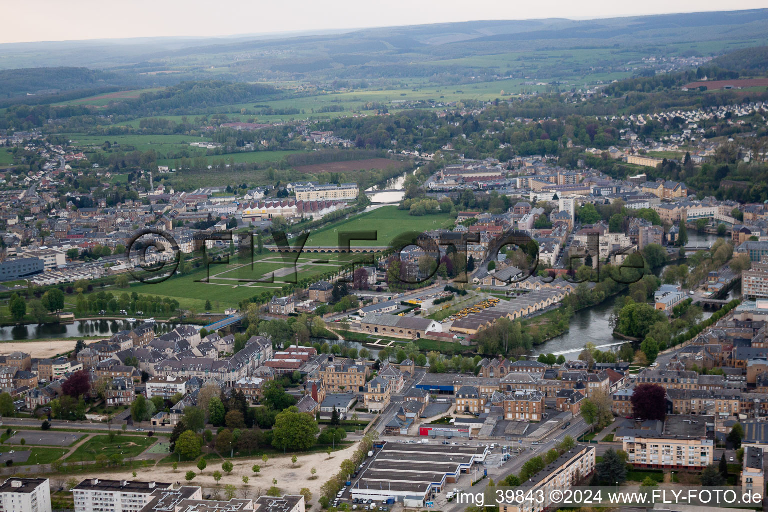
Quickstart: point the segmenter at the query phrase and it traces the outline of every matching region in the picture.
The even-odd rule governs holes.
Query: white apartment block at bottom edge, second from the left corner
[[[72,489],[74,512],[136,512],[144,508],[158,489],[173,484],[89,478]]]

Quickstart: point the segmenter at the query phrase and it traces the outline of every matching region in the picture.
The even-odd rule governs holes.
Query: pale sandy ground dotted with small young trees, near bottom
[[[227,484],[233,484],[237,487],[237,497],[242,497],[240,490],[246,487],[249,491],[248,497],[255,498],[257,496],[257,490],[261,490],[261,494],[266,494],[266,491],[272,487],[272,479],[277,479],[277,487],[283,491],[283,494],[299,494],[299,491],[303,487],[307,487],[312,492],[312,503],[317,503],[320,494],[320,487],[328,481],[330,477],[339,472],[339,466],[343,461],[352,457],[357,448],[357,443],[351,447],[342,451],[336,451],[328,457],[328,454],[301,454],[297,453],[296,456],[299,460],[296,462],[296,466],[293,466],[291,457],[293,454],[287,454],[285,456],[270,458],[266,465],[261,461],[261,457],[253,458],[238,458],[233,459],[235,465],[231,474],[224,473],[221,469],[223,461],[208,461],[208,466],[200,474],[200,470],[197,469],[197,464],[193,462],[184,462],[179,465],[177,471],[170,464],[164,464],[162,466],[147,467],[146,469],[138,469],[136,480],[143,481],[157,481],[168,482],[179,485],[193,485],[204,488],[205,494],[210,494],[214,487],[217,487],[216,481],[214,481],[214,471],[221,471],[223,478],[219,482],[221,494],[220,499],[224,499],[223,488]],[[251,469],[253,464],[259,464],[261,466],[261,472],[256,474]],[[312,477],[310,472],[315,467],[317,470],[316,479],[309,480]],[[194,471],[197,473],[197,477],[187,484],[184,480],[184,475],[187,471]],[[98,471],[94,471],[92,474],[84,473],[78,474],[78,478],[110,478],[113,480],[134,480],[131,474],[132,470],[127,471],[110,471],[108,474],[103,472],[100,474]],[[250,478],[247,486],[243,485],[243,476]]]

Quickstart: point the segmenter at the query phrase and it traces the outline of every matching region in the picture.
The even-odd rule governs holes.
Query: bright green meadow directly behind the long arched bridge
[[[343,222],[313,231],[306,241],[307,247],[339,247],[339,234],[355,231],[376,231],[376,240],[353,240],[353,247],[388,246],[399,235],[412,232],[424,233],[429,230],[452,226],[454,220],[448,213],[439,215],[412,216],[397,206],[382,206],[376,210],[353,216]]]

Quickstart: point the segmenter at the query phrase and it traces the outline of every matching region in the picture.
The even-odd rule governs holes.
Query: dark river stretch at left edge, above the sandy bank
[[[10,342],[25,339],[84,338],[86,336],[111,336],[125,329],[134,329],[142,322],[116,320],[81,320],[73,323],[48,323],[37,325],[15,325],[0,328],[0,341]],[[157,323],[154,332],[163,335],[176,329],[176,323]],[[194,325],[202,327],[202,325]]]

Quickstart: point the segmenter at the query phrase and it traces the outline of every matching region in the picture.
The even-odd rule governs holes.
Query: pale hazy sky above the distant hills
[[[609,18],[765,8],[766,0],[38,0],[3,2],[0,43],[422,25],[445,21]]]

